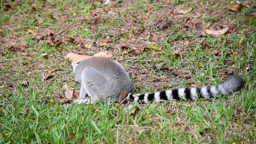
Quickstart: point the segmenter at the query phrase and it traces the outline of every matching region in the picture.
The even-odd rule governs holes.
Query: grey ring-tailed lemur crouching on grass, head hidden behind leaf
[[[152,94],[132,94],[131,82],[123,66],[109,58],[89,58],[79,64],[72,62],[74,77],[81,83],[80,100],[75,102],[87,104],[88,99],[82,98],[90,96],[94,100],[110,100],[110,102],[120,103],[124,98],[128,103],[132,101],[144,100],[191,100],[196,98],[214,98],[220,94],[226,95],[236,92],[244,87],[245,81],[240,76],[229,76],[223,83],[217,86],[204,86],[202,88],[180,88],[166,90]]]

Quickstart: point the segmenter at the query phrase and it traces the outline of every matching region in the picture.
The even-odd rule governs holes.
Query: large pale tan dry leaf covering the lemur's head
[[[70,52],[65,56],[65,58],[70,59],[74,63],[78,63],[87,58],[92,58],[92,57],[111,58],[112,56],[113,56],[112,53],[106,54],[106,52],[98,52],[98,53],[94,54],[93,56],[85,56],[85,55],[74,54],[74,53]]]

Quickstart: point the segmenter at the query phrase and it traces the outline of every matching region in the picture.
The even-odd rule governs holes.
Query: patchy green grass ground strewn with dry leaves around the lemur
[[[42,34],[52,28],[58,33],[75,20],[92,17],[91,10],[104,8],[104,4],[28,0],[10,2],[13,9],[7,11],[8,6],[1,1],[0,143],[255,143],[255,4],[243,2],[248,6],[230,12],[228,8],[235,1],[121,1],[96,13],[118,16],[127,24],[103,17],[104,22],[74,24],[56,38],[94,43],[84,48],[50,46],[47,38],[36,40],[26,29]],[[177,13],[191,7],[194,10],[188,14]],[[167,29],[147,28],[155,11],[173,15]],[[138,24],[134,16],[142,23]],[[230,37],[199,37],[199,29],[223,28],[216,22],[228,25]],[[236,35],[242,32],[251,33]],[[101,38],[108,36],[112,42],[101,46]],[[144,50],[149,45],[162,45],[162,51]],[[179,57],[173,54],[178,48],[185,49]],[[246,85],[240,92],[212,100],[135,104],[128,111],[127,104],[54,101],[65,95],[65,83],[80,89],[64,56],[68,52],[93,55],[99,51],[114,53],[112,59],[123,64],[134,93],[215,85],[230,71],[241,75]],[[47,56],[42,56],[44,53]],[[45,73],[52,72],[56,75],[42,80]],[[136,107],[139,111],[131,114]]]

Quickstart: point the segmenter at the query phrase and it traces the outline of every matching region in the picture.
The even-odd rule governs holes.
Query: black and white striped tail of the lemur
[[[127,95],[128,103],[132,101],[144,100],[149,102],[152,100],[195,100],[198,98],[214,98],[219,97],[220,94],[230,94],[236,92],[244,87],[245,81],[240,76],[229,76],[225,82],[217,86],[202,87],[202,88],[181,88],[174,90],[166,90],[152,94],[131,94]]]

